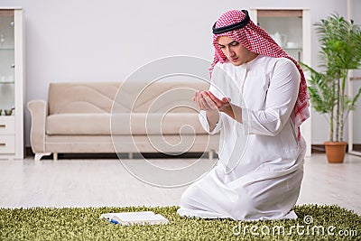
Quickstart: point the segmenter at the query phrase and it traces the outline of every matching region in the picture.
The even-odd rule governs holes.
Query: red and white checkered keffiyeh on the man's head
[[[225,27],[230,24],[239,23],[245,19],[245,13],[240,10],[230,10],[225,14],[222,14],[217,23],[216,28]],[[309,94],[307,91],[307,84],[306,79],[303,75],[303,71],[301,70],[300,65],[291,56],[289,56],[282,48],[273,41],[273,38],[257,26],[252,20],[249,21],[245,25],[245,27],[238,28],[233,31],[214,34],[213,35],[213,46],[215,48],[215,56],[213,63],[210,67],[210,73],[212,72],[214,66],[218,62],[225,62],[227,60],[226,55],[223,54],[222,50],[218,46],[218,37],[219,36],[228,36],[235,40],[236,42],[241,43],[245,49],[249,51],[253,51],[258,54],[263,54],[266,56],[270,56],[273,58],[287,58],[294,62],[297,69],[300,71],[301,74],[301,82],[300,82],[300,89],[296,104],[292,111],[292,121],[293,124],[298,128],[299,133],[298,137],[299,140],[301,138],[301,132],[299,126],[304,122],[308,117],[310,117],[309,112]]]

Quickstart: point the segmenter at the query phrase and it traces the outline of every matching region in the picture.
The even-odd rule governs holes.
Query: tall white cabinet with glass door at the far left
[[[23,159],[23,10],[0,8],[0,159]]]

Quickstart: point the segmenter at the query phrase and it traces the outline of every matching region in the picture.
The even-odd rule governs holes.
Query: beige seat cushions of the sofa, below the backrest
[[[112,131],[110,126],[112,125]],[[206,134],[197,113],[58,114],[47,117],[47,134]]]

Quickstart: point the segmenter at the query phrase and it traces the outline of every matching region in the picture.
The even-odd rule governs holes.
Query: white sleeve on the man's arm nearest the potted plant
[[[301,75],[294,63],[276,63],[265,98],[264,110],[242,108],[247,134],[277,135],[289,120],[300,88]]]

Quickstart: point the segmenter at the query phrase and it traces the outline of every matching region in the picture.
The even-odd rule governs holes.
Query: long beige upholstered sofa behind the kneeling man
[[[205,82],[51,83],[48,102],[32,100],[35,160],[53,153],[213,153],[218,134],[199,124],[192,101]]]

